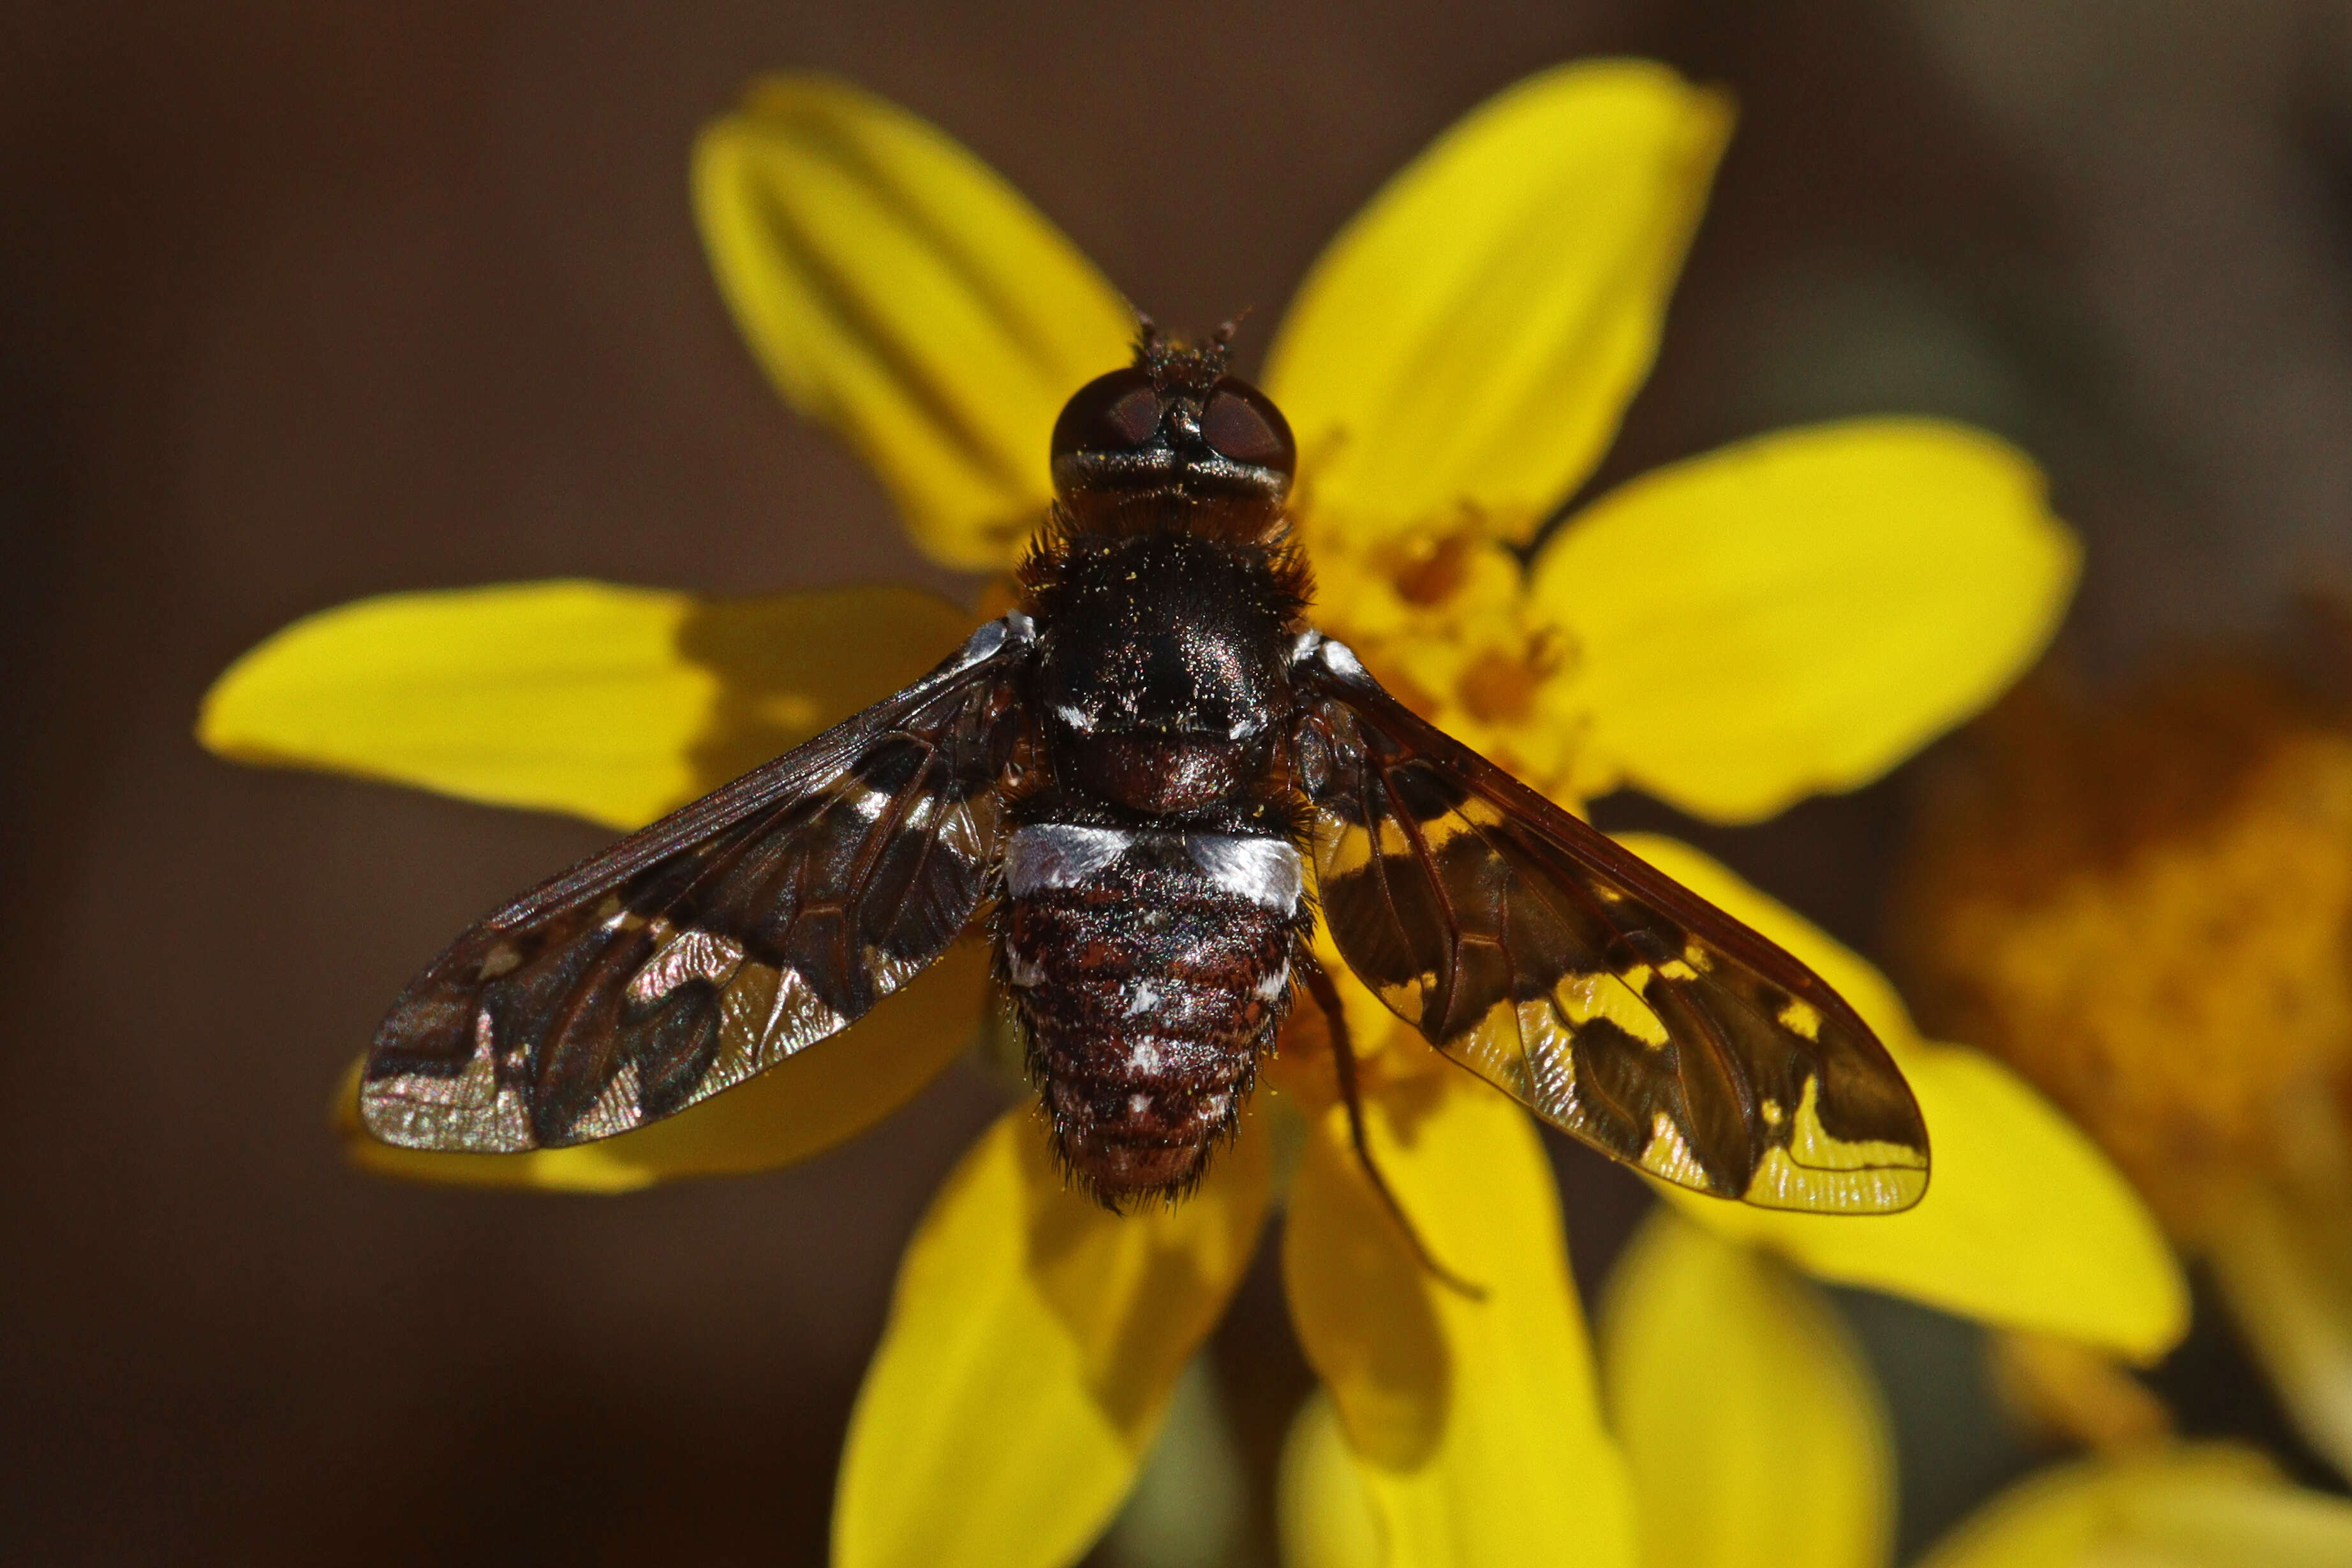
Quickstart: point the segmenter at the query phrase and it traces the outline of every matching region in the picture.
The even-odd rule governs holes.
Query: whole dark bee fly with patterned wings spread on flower
[[[1364,1150],[1319,905],[1399,1018],[1616,1159],[1773,1208],[1919,1199],[1919,1107],[1837,992],[1308,623],[1296,449],[1225,334],[1145,324],[1051,465],[1014,614],[459,936],[376,1032],[367,1128],[644,1126],[849,1027],[985,905],[1061,1159],[1115,1208],[1174,1199],[1301,987]]]

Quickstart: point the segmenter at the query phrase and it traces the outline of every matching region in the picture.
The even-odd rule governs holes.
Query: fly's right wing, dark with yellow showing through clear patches
[[[1482,1079],[1670,1182],[1889,1213],[1926,1192],[1910,1086],[1811,969],[1303,639],[1301,788],[1348,966]]]

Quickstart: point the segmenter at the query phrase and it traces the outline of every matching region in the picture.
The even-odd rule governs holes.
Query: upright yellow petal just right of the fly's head
[[[1731,103],[1649,61],[1534,75],[1439,136],[1308,273],[1265,364],[1315,515],[1477,508],[1524,538],[1649,374]]]

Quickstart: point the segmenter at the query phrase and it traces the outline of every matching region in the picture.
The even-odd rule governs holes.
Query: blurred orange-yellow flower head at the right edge
[[[1922,813],[1907,947],[2201,1253],[2352,1474],[2352,724],[2241,663],[2046,682]]]

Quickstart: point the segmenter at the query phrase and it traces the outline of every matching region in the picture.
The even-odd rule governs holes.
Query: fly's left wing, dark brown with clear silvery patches
[[[1025,616],[983,625],[459,936],[376,1030],[367,1131],[466,1152],[609,1138],[856,1023],[981,903],[1033,646]]]

